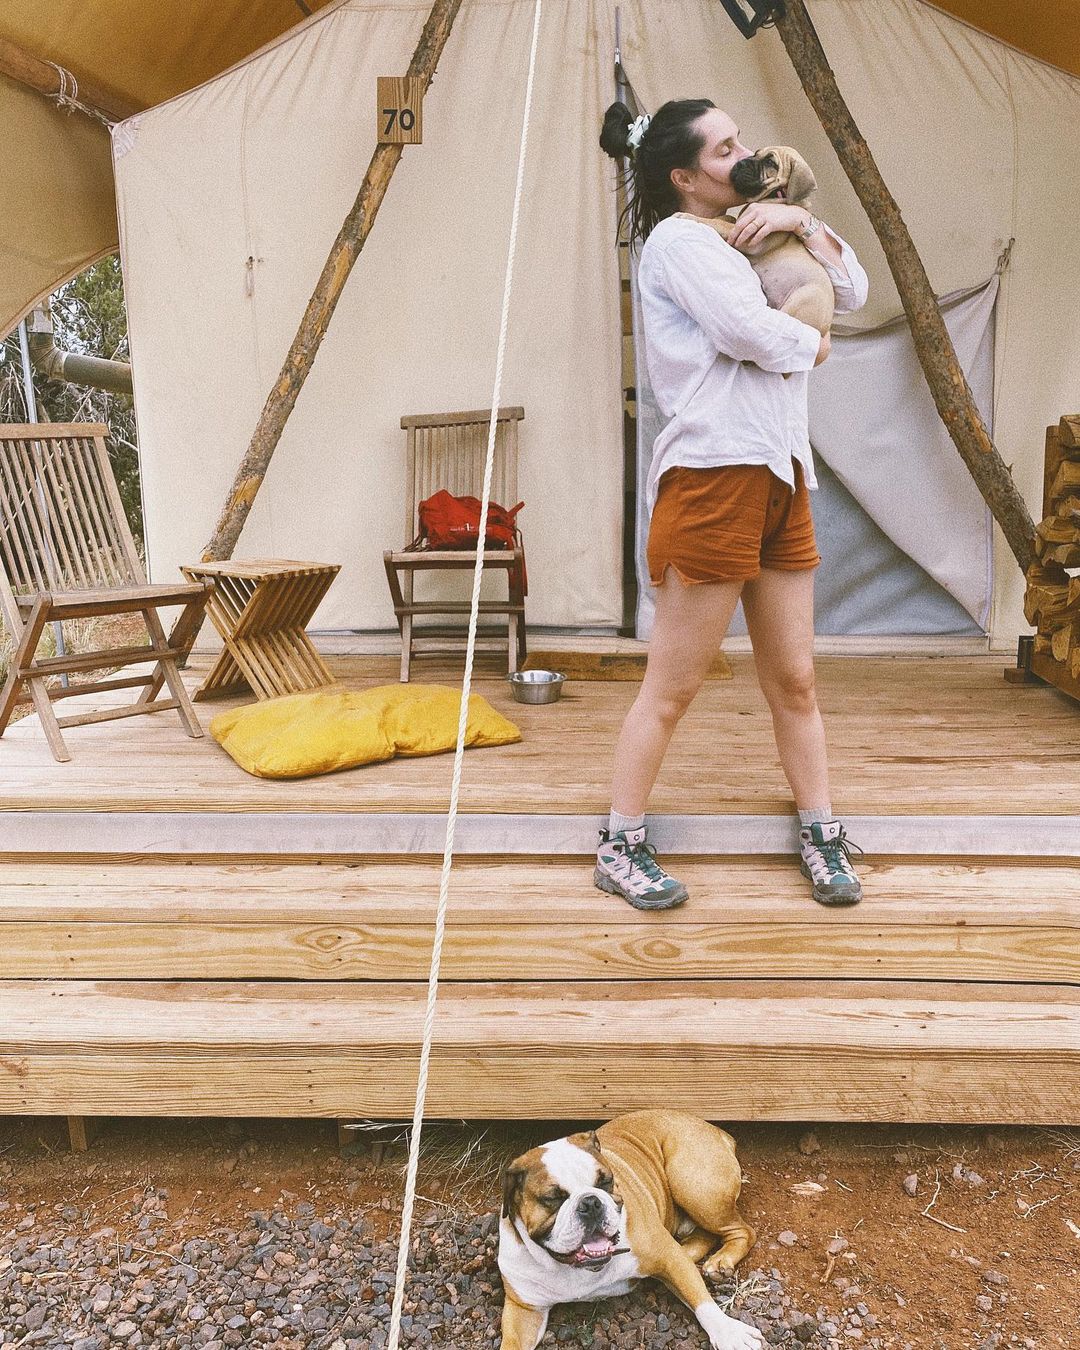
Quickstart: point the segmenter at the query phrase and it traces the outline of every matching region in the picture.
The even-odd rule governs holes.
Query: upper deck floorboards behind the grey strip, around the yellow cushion
[[[358,688],[385,683],[370,662],[333,657],[331,666]],[[752,659],[733,656],[732,666],[734,679],[707,683],[679,726],[653,811],[790,814]],[[818,657],[834,807],[1080,814],[1080,707],[1046,686],[1008,684],[1002,671],[1000,657]],[[192,687],[200,676],[185,675]],[[560,702],[539,707],[514,703],[501,679],[482,678],[477,690],[524,738],[468,752],[463,811],[608,809],[614,740],[636,684],[571,682]],[[207,722],[234,702],[202,705],[198,716]],[[9,728],[0,738],[0,811],[432,813],[446,810],[452,770],[452,756],[436,756],[266,782],[170,718],[84,728],[70,748],[72,763],[57,764],[36,718]]]

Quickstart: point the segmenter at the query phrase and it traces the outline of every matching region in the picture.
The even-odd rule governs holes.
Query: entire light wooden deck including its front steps
[[[1075,1123],[1080,709],[1000,659],[819,657],[869,845],[863,905],[830,911],[732,664],[657,787],[691,891],[667,914],[590,879],[636,684],[526,707],[481,679],[524,741],[466,756],[429,1114]],[[34,720],[0,740],[0,1112],[408,1115],[451,757],[266,783],[167,718],[72,751]]]

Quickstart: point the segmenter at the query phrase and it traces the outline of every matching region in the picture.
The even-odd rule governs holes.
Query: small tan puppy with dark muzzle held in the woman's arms
[[[790,146],[767,146],[749,159],[740,159],[732,170],[732,185],[748,201],[779,197],[792,207],[807,207],[810,193],[817,188],[814,174],[802,155]],[[734,220],[717,216],[679,216],[701,220],[711,225],[725,240]],[[829,273],[806,248],[801,239],[787,231],[770,235],[749,262],[761,282],[761,290],[772,309],[794,315],[819,333],[828,333],[833,323],[833,284]]]

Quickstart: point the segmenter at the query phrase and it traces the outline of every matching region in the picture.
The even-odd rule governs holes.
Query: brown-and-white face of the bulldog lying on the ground
[[[562,1265],[602,1269],[628,1250],[622,1196],[594,1131],[531,1149],[504,1173],[502,1218]]]

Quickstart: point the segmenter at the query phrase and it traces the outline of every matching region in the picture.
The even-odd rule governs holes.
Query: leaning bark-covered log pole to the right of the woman
[[[837,88],[803,0],[787,0],[784,12],[776,18],[776,31],[882,242],[911,325],[915,354],[941,420],[994,518],[1002,526],[1017,562],[1026,571],[1035,562],[1034,522],[975,406],[926,269],[911,242],[899,207],[886,188],[873,155]]]

